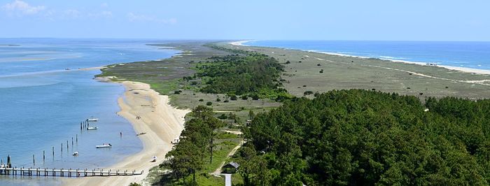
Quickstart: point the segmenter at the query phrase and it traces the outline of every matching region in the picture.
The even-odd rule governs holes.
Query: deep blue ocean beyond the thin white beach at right
[[[248,41],[244,45],[333,52],[490,70],[490,42],[463,41]]]

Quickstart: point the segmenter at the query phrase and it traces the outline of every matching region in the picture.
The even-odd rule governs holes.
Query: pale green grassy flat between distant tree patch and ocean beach
[[[307,91],[321,93],[349,89],[397,92],[416,95],[422,100],[428,96],[468,99],[490,96],[489,74],[302,50],[229,43],[218,45],[234,50],[260,52],[278,59],[285,66],[281,76],[283,85],[295,96],[303,96]]]

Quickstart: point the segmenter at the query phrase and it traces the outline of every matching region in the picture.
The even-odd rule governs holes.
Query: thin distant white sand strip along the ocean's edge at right
[[[247,43],[251,40],[243,40],[243,41],[234,41],[230,42],[228,44],[230,45],[238,45],[238,46],[251,46],[251,47],[262,47],[262,46],[253,46],[253,45],[244,45],[244,43]],[[271,48],[277,48],[277,47],[271,47]],[[300,49],[293,49],[293,48],[281,48],[281,49],[286,49],[286,50],[300,50]],[[301,50],[304,52],[315,52],[315,53],[320,53],[324,55],[335,55],[335,56],[341,56],[341,57],[355,57],[355,58],[360,58],[360,59],[380,59],[380,60],[386,60],[389,62],[396,62],[396,63],[405,63],[405,64],[417,64],[421,66],[427,66],[426,62],[411,62],[411,61],[405,61],[405,60],[398,60],[398,59],[386,59],[382,57],[363,57],[363,56],[356,56],[356,55],[344,55],[340,53],[335,53],[335,52],[321,52],[317,50]],[[484,75],[490,75],[490,70],[484,70],[484,69],[472,69],[472,68],[466,68],[466,67],[459,67],[459,66],[447,66],[447,65],[437,65],[433,67],[440,67],[444,69],[449,69],[453,71],[461,71],[465,73],[477,73],[477,74],[484,74]]]

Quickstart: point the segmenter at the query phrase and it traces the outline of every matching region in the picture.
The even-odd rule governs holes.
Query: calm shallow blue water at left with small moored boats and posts
[[[18,167],[97,169],[142,150],[132,125],[116,114],[124,87],[93,80],[98,70],[78,69],[162,59],[178,52],[147,43],[165,41],[0,38],[1,161],[10,155]],[[99,129],[80,130],[80,122],[92,116],[99,118],[92,123]],[[95,148],[102,143],[113,148]],[[78,157],[72,156],[75,151]],[[31,179],[0,176],[0,185],[29,185]]]

